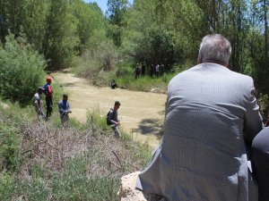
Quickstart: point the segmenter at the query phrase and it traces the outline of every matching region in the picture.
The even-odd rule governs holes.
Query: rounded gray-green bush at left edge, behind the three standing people
[[[26,103],[44,79],[44,59],[33,48],[12,34],[0,46],[0,94],[12,101]]]

